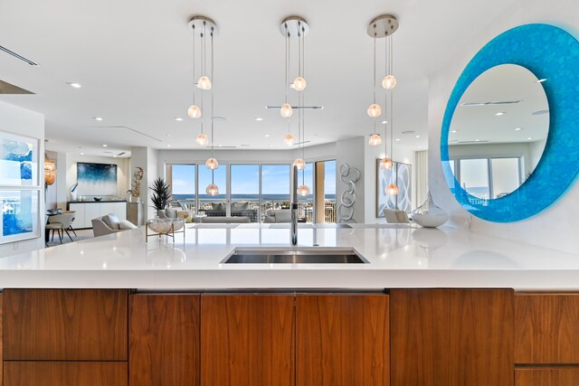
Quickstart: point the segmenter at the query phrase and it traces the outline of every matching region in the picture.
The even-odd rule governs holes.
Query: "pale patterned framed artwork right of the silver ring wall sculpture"
[[[392,170],[380,169],[376,159],[376,217],[384,217],[384,208],[412,211],[412,165],[394,162]],[[398,194],[386,194],[386,186],[392,182],[398,186]]]

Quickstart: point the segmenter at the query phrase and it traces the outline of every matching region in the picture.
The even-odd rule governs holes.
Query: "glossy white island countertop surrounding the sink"
[[[289,228],[187,224],[149,238],[122,231],[0,259],[0,288],[579,289],[579,254],[449,228],[353,224],[299,229],[299,247],[352,247],[369,264],[223,264],[236,247],[289,247]],[[289,224],[288,224],[289,226]]]

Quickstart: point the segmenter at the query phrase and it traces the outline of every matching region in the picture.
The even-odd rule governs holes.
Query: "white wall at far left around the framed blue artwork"
[[[25,108],[18,108],[5,102],[0,102],[0,130],[23,136],[38,138],[40,141],[41,184],[44,184],[44,116]],[[11,242],[0,245],[0,257],[14,255],[44,246],[44,189],[41,189],[40,197],[41,234],[40,238]]]

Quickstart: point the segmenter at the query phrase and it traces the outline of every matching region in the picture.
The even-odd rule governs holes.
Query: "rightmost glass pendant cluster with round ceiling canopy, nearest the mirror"
[[[376,104],[376,39],[384,38],[384,78],[381,82],[383,89],[385,89],[384,96],[384,114],[390,117],[386,121],[385,135],[388,135],[390,129],[390,139],[386,141],[384,150],[384,159],[380,161],[380,169],[392,170],[394,166],[394,88],[396,87],[396,77],[394,77],[393,70],[393,42],[392,35],[398,29],[398,20],[392,14],[383,14],[375,17],[375,19],[368,25],[367,33],[374,39],[374,100],[372,105],[367,109],[367,114],[374,118],[374,134],[370,137],[369,144],[378,146],[382,144],[382,138],[376,133],[376,118],[382,115],[382,108]],[[388,142],[390,145],[390,152],[388,152]],[[395,181],[395,173],[391,173],[392,180],[385,188],[385,193],[388,195],[398,194],[398,186]]]

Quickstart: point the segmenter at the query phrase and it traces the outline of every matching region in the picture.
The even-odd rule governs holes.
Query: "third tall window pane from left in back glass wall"
[[[260,165],[231,165],[231,215],[257,222],[260,208]]]

